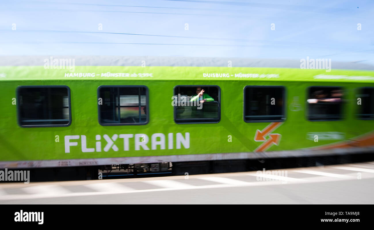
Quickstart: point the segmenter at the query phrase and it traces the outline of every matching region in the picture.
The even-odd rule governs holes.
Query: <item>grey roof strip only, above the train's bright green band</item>
[[[300,68],[300,60],[252,59],[230,57],[162,57],[162,56],[0,56],[0,66],[42,66],[45,59],[74,59],[76,66],[196,66],[196,67],[273,67]],[[374,65],[358,62],[332,62],[332,69],[374,70]]]

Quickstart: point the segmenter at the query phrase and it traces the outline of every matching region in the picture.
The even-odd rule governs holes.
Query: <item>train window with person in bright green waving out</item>
[[[200,95],[200,92],[202,92],[202,95]],[[217,85],[175,86],[172,101],[175,123],[220,122],[220,93],[221,89]],[[200,99],[203,102],[200,102]]]

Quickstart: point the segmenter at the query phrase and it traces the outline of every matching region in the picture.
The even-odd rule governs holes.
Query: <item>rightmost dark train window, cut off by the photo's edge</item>
[[[374,88],[362,87],[358,88],[356,94],[356,111],[357,118],[362,120],[374,119]]]

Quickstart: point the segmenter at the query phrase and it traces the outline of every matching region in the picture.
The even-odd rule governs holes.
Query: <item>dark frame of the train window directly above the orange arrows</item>
[[[245,90],[246,88],[283,88],[283,106],[282,106],[282,117],[279,120],[245,120],[245,108],[246,108],[246,97],[245,97]],[[286,103],[287,103],[287,98],[286,98],[286,86],[285,85],[246,85],[243,88],[243,120],[246,123],[258,123],[258,122],[285,122],[287,120],[286,116]],[[266,117],[266,116],[264,116]]]

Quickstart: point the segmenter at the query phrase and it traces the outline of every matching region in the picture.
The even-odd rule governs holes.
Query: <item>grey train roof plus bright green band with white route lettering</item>
[[[374,66],[368,64],[330,62],[331,69],[301,69],[300,63],[300,60],[209,57],[0,56],[0,81],[247,80],[374,83]],[[230,65],[232,67],[228,67]]]

